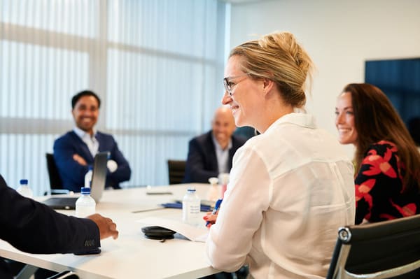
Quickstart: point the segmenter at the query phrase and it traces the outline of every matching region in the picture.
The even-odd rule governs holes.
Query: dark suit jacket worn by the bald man
[[[188,145],[188,158],[183,183],[209,183],[209,178],[218,177],[216,147],[211,138],[212,131],[193,138]],[[246,142],[246,138],[232,135],[229,150],[229,169],[232,169],[233,155]]]

